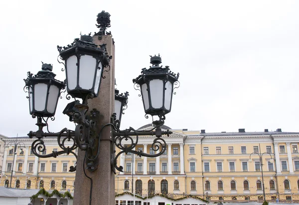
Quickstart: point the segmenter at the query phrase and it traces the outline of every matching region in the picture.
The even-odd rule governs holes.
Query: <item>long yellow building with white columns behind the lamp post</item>
[[[149,124],[141,129],[151,128]],[[162,126],[162,130],[166,129],[170,128]],[[187,129],[171,131],[169,137],[163,137],[166,151],[159,157],[130,154],[119,157],[118,166],[123,166],[124,172],[115,176],[116,193],[132,192],[133,181],[134,193],[144,197],[163,193],[174,198],[195,195],[218,202],[263,200],[260,158],[257,154],[250,156],[253,152],[261,152],[264,153],[262,168],[267,201],[275,201],[277,197],[280,201],[299,201],[299,133],[282,132],[281,129],[274,132],[239,129],[238,132],[220,133]],[[139,136],[136,149],[154,154],[151,149],[154,138]],[[3,139],[5,144],[11,140],[15,138]],[[68,170],[76,163],[74,156],[38,158],[30,153],[34,139],[19,137],[18,140],[25,144],[26,150],[18,149],[12,163],[13,152],[5,149],[1,186],[9,186],[12,169],[15,171],[11,183],[14,188],[43,186],[46,190],[69,189],[73,192],[75,173]],[[59,151],[56,138],[47,137],[44,141],[46,154],[55,149]]]

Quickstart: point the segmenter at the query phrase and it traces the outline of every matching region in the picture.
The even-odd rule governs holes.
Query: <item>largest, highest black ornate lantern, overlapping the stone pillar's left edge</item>
[[[73,98],[85,99],[89,94],[99,94],[103,67],[109,65],[105,44],[93,43],[90,35],[81,35],[67,47],[57,46],[65,61],[67,92]]]

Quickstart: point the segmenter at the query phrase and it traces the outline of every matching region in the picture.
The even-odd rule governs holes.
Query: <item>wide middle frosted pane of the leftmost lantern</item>
[[[37,111],[43,111],[46,105],[48,85],[38,83],[34,86],[34,108]]]

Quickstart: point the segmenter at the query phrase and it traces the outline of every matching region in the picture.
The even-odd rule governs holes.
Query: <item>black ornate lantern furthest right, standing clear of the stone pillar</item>
[[[171,110],[173,84],[179,74],[170,72],[169,67],[159,66],[160,55],[151,56],[152,67],[142,69],[142,75],[133,79],[133,83],[141,88],[145,112],[150,115],[164,115]]]

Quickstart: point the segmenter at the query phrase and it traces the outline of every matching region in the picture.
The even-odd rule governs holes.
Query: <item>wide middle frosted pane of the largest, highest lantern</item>
[[[82,89],[91,89],[95,77],[97,60],[89,55],[80,57],[79,86]]]

